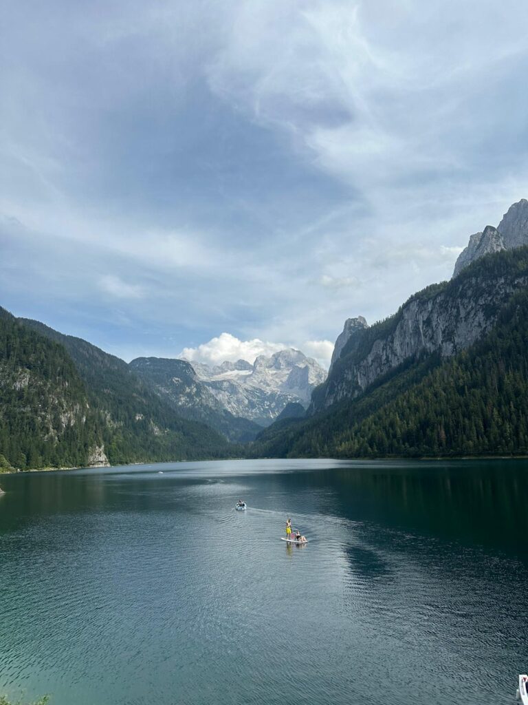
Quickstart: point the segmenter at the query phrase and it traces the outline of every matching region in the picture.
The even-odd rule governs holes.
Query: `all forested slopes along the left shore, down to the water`
[[[212,429],[178,417],[118,357],[38,321],[3,311],[1,322],[0,454],[11,465],[192,460],[234,452]]]

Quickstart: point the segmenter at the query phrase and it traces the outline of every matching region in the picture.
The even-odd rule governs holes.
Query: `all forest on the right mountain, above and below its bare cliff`
[[[450,296],[446,305],[452,310],[470,283],[476,303],[483,302],[481,335],[451,357],[442,355],[441,345],[431,352],[420,348],[312,417],[266,429],[252,453],[337,458],[528,453],[527,274],[528,248],[522,248],[484,257],[453,280],[454,286],[421,293],[422,303],[439,293],[444,300]],[[362,355],[400,321],[401,310],[362,333]]]

